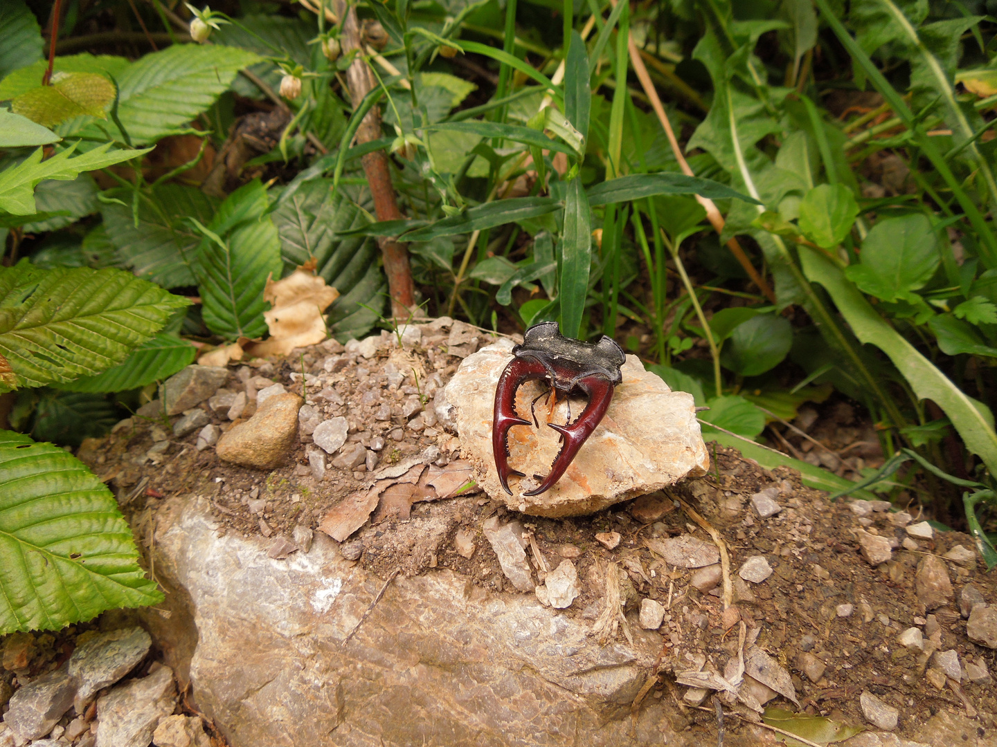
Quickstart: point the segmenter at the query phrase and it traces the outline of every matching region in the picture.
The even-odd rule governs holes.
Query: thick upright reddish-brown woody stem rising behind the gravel
[[[360,22],[353,6],[346,8],[345,2],[337,0],[336,13],[343,19],[340,39],[343,53],[358,50],[357,58],[346,71],[346,83],[350,90],[353,106],[359,106],[364,97],[377,85],[367,62],[363,59],[363,40]],[[357,144],[370,142],[381,137],[381,110],[374,107],[357,129]],[[395,186],[391,182],[391,168],[388,156],[383,150],[376,150],[363,156],[364,174],[374,197],[374,212],[378,220],[397,220],[404,217],[398,207]],[[378,241],[384,259],[384,271],[388,276],[388,290],[391,293],[391,312],[396,319],[407,319],[415,310],[415,285],[412,282],[412,268],[409,265],[408,245],[393,238]]]

